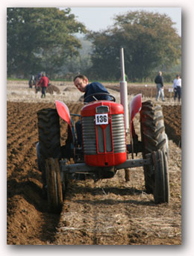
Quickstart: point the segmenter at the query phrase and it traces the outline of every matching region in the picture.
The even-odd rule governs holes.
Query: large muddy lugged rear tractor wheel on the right
[[[168,145],[163,121],[163,110],[160,105],[151,101],[143,102],[140,111],[141,140],[143,143],[143,158],[146,154],[163,150],[168,155]],[[146,193],[154,193],[154,169],[144,166]]]

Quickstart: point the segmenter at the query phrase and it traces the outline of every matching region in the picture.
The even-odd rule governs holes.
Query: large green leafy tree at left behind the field
[[[86,33],[71,9],[7,8],[7,73],[58,72],[67,57],[78,55],[75,33]]]

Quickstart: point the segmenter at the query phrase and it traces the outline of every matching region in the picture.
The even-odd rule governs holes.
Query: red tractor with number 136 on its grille
[[[131,143],[127,144],[125,111],[122,104],[94,101],[81,109],[82,146],[78,146],[75,125],[69,109],[56,101],[56,109],[38,111],[38,164],[45,175],[48,207],[61,210],[67,181],[88,175],[94,179],[112,178],[120,169],[143,166],[145,191],[153,193],[154,202],[169,202],[168,139],[162,107],[141,101],[141,94],[130,104]],[[134,116],[140,112],[141,140],[134,128]],[[68,138],[60,146],[60,119],[68,124]],[[141,153],[140,159],[134,154]],[[131,156],[130,156],[131,155]],[[136,157],[137,158],[137,157]],[[74,163],[67,164],[73,159]]]

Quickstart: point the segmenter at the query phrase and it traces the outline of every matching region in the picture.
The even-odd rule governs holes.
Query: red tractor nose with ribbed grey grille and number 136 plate
[[[81,109],[84,160],[90,166],[116,166],[127,159],[122,104],[91,102]]]

